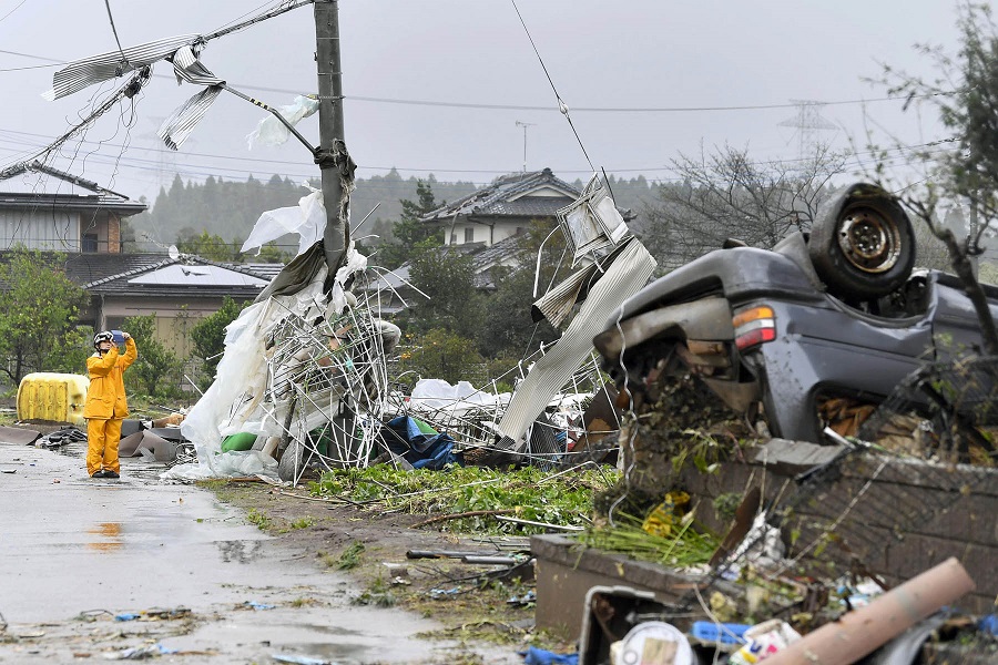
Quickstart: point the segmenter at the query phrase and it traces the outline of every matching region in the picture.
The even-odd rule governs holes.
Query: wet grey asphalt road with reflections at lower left
[[[141,459],[122,460],[120,480],[91,479],[82,454],[80,444],[0,442],[0,662],[106,658],[153,643],[206,652],[157,658],[186,664],[273,663],[275,654],[450,661],[448,645],[413,637],[437,624],[352,606],[348,577],[319,571],[211,492],[162,483],[162,466]],[[186,634],[176,622],[111,618],[177,607],[198,618]]]

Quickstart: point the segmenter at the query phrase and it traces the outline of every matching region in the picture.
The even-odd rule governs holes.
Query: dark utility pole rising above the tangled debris
[[[315,0],[315,60],[318,71],[319,147],[315,162],[323,175],[326,233],[323,236],[332,284],[349,244],[349,186],[355,165],[343,132],[343,72],[339,64],[339,6]],[[347,187],[344,187],[344,181]]]

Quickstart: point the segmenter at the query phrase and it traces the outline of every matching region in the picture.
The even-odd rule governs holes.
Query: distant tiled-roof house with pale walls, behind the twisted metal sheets
[[[550,168],[515,173],[488,187],[431,211],[424,224],[441,228],[446,245],[481,243],[485,247],[526,233],[531,223],[558,224],[559,209],[572,203],[579,190]]]

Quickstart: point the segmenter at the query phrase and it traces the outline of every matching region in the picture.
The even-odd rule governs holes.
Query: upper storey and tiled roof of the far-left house
[[[122,219],[145,208],[86,178],[21,162],[0,171],[0,250],[118,254]]]

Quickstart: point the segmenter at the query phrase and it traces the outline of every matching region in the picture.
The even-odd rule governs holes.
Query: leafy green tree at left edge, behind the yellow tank
[[[86,293],[70,282],[65,255],[14,248],[0,266],[0,366],[14,385],[32,371],[81,371],[89,354],[78,331]],[[84,341],[85,340],[85,341]]]

